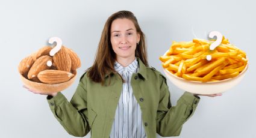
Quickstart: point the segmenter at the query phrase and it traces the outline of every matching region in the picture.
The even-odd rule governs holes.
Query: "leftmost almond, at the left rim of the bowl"
[[[22,59],[22,61],[19,62],[19,73],[23,74],[23,76],[27,76],[28,71],[30,70],[31,66],[34,63],[33,56],[28,56],[27,58]]]

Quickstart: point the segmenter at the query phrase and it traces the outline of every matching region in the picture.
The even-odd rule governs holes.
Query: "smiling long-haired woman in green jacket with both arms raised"
[[[199,101],[185,92],[171,106],[166,78],[149,67],[144,34],[130,11],[108,18],[95,62],[70,102],[61,92],[47,99],[66,131],[80,137],[90,130],[92,137],[178,136]]]

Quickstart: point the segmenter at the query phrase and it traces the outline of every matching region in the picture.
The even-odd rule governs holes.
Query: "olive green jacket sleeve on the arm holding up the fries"
[[[160,83],[160,101],[157,110],[157,133],[160,136],[179,136],[183,124],[195,112],[199,97],[190,92],[184,94],[178,100],[176,106],[170,103],[170,92],[166,84],[166,78]]]

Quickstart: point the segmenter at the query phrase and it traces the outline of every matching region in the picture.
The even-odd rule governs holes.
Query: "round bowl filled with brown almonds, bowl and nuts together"
[[[28,88],[42,93],[60,92],[75,81],[76,69],[81,67],[78,55],[64,46],[54,56],[49,55],[51,50],[51,46],[42,47],[20,61],[20,79]]]

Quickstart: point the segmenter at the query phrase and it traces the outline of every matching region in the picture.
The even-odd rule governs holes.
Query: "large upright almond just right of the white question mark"
[[[71,59],[64,47],[61,47],[61,49],[57,53],[55,53],[55,55],[53,56],[53,61],[58,70],[70,72]]]

